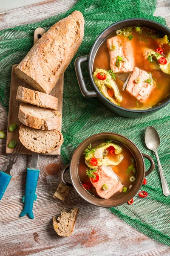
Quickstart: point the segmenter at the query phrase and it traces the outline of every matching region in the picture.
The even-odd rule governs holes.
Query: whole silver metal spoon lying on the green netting
[[[160,177],[161,177],[161,185],[162,185],[162,191],[164,195],[170,195],[170,189],[167,185],[167,181],[164,177],[164,173],[161,167],[161,163],[159,161],[159,156],[158,156],[158,148],[160,145],[160,137],[158,132],[156,131],[156,129],[153,126],[149,126],[147,127],[146,131],[145,131],[145,136],[144,136],[144,140],[146,143],[147,148],[149,148],[150,150],[153,150],[153,152],[155,152],[156,154],[156,158],[158,161],[158,166],[159,166],[159,172],[160,172]]]

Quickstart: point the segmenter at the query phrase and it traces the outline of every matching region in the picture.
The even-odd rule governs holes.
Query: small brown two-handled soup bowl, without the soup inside
[[[93,144],[99,140],[107,139],[113,140],[115,143],[119,143],[125,146],[133,154],[133,157],[135,158],[136,161],[136,179],[132,187],[125,194],[120,195],[117,198],[111,199],[95,197],[88,193],[80,183],[78,175],[79,160],[83,154],[84,149],[87,148],[87,146],[90,143]],[[147,172],[145,172],[144,157],[150,161],[150,168],[149,170],[147,170]],[[121,204],[125,204],[127,201],[129,201],[137,194],[137,192],[142,186],[144,177],[149,175],[153,171],[154,167],[155,164],[153,159],[150,156],[141,153],[139,148],[131,140],[116,133],[100,133],[92,135],[91,137],[87,138],[77,147],[72,156],[71,163],[65,166],[65,168],[62,170],[60,174],[60,180],[64,185],[73,187],[77,191],[77,193],[90,204],[94,204],[98,207],[116,207]],[[64,179],[64,174],[68,169],[70,169],[71,183],[68,183]]]

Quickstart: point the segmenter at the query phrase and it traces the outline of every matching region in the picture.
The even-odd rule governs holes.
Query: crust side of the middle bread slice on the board
[[[40,118],[32,116],[31,114],[25,113],[23,109],[24,103],[20,104],[18,119],[24,125],[31,128],[40,129],[40,130],[59,130],[61,128],[62,117],[58,111],[56,112],[56,117],[52,118]]]

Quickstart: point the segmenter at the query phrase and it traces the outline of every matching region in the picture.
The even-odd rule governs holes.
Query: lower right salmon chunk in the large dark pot
[[[136,78],[140,79],[138,84],[135,82]],[[151,79],[150,74],[134,67],[133,73],[127,83],[126,91],[140,102],[145,102],[153,89],[153,80],[151,79],[149,84],[146,82],[147,79]]]

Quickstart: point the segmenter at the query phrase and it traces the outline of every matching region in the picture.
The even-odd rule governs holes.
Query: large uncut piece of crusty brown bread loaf
[[[15,73],[36,90],[50,93],[77,52],[84,36],[84,18],[75,11],[42,35]]]

